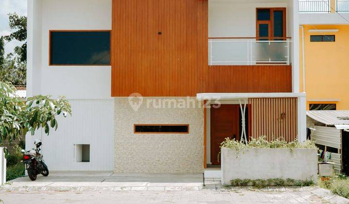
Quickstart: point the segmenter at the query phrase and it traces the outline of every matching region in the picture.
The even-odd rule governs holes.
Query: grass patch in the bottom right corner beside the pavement
[[[339,174],[336,177],[330,177],[329,180],[321,181],[318,186],[331,190],[333,194],[349,199],[349,177]]]

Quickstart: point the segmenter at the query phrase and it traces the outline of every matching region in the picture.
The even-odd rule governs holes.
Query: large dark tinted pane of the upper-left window
[[[50,64],[110,65],[110,32],[51,32]]]

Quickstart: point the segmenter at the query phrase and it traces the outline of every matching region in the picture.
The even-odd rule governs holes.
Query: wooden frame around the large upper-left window
[[[109,32],[110,33],[110,61],[109,65],[105,64],[52,64],[51,63],[51,33],[52,32]],[[112,56],[113,56],[113,49],[112,49],[112,32],[111,30],[49,30],[48,31],[48,66],[64,66],[64,67],[69,67],[69,66],[82,66],[82,67],[87,67],[87,66],[111,66],[112,65]]]

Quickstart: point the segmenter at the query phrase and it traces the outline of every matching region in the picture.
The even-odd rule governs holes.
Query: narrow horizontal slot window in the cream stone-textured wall
[[[134,133],[188,134],[189,125],[134,125]]]

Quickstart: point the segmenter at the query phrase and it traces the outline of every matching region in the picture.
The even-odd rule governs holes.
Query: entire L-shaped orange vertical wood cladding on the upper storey
[[[111,96],[291,92],[290,66],[208,66],[208,0],[113,0]]]

